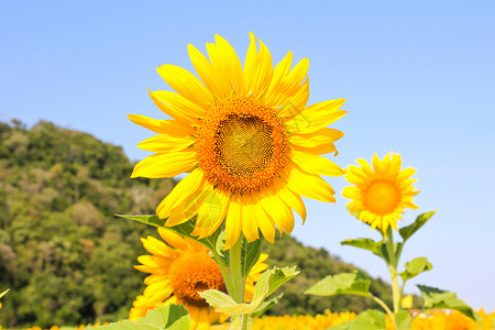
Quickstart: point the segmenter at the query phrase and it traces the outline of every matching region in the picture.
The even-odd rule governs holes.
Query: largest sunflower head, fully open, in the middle
[[[141,161],[131,177],[162,178],[190,173],[160,204],[156,213],[177,226],[197,216],[194,235],[212,234],[226,219],[230,249],[243,232],[273,243],[294,228],[293,209],[306,220],[305,196],[334,201],[320,175],[342,169],[319,155],[334,152],[343,133],[327,125],[342,118],[343,99],[306,106],[308,59],[293,69],[289,52],[273,68],[268,48],[250,34],[242,67],[232,46],[216,35],[209,59],[193,45],[189,57],[202,80],[184,68],[163,65],[158,74],[176,92],[150,92],[174,120],[130,114],[158,135],[138,146],[155,154]]]

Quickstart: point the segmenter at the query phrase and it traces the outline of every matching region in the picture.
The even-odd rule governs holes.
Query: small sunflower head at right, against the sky
[[[345,179],[355,185],[342,190],[343,197],[352,199],[348,209],[358,212],[360,220],[370,223],[372,229],[385,233],[391,226],[397,230],[397,219],[403,218],[404,208],[418,208],[413,196],[419,190],[414,190],[411,185],[417,179],[410,178],[416,169],[400,170],[400,155],[394,153],[388,153],[383,161],[373,155],[373,168],[364,160],[356,163],[361,167],[350,165],[345,169]]]

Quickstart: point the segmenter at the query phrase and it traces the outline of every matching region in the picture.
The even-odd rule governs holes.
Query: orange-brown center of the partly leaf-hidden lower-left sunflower
[[[174,295],[196,307],[208,307],[198,292],[216,289],[227,293],[220,267],[206,251],[187,251],[175,258],[169,267],[169,278]]]

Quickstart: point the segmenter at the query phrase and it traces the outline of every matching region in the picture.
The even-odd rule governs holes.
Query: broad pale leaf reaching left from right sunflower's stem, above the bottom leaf
[[[371,280],[361,272],[327,276],[305,294],[315,296],[358,295],[369,297]]]

